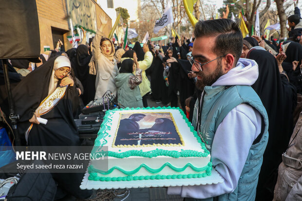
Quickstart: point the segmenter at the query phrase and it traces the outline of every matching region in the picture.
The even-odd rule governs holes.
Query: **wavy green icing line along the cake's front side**
[[[152,169],[151,167],[149,167],[147,164],[141,164],[140,166],[138,166],[137,168],[135,168],[134,170],[131,171],[127,171],[124,170],[121,167],[118,166],[113,166],[112,168],[110,168],[108,171],[102,171],[99,169],[95,169],[93,165],[89,166],[89,170],[92,172],[96,172],[96,173],[100,173],[102,175],[108,175],[111,174],[113,172],[114,169],[119,170],[120,172],[124,173],[125,175],[133,175],[135,173],[137,173],[142,167],[145,168],[148,172],[155,174],[155,173],[159,173],[160,171],[162,171],[166,166],[170,167],[172,170],[174,170],[175,172],[182,172],[184,171],[187,167],[190,167],[192,170],[194,170],[195,172],[201,172],[201,171],[206,171],[208,169],[208,165],[205,167],[195,167],[194,165],[188,163],[183,167],[175,167],[170,163],[165,163],[163,164],[160,168],[158,169]]]

